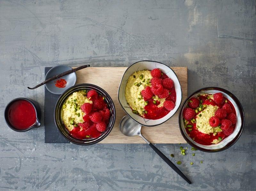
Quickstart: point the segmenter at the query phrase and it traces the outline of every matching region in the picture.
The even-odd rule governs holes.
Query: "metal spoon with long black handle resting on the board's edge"
[[[138,135],[148,145],[176,172],[178,173],[184,180],[186,180],[189,184],[191,184],[190,180],[179,170],[177,166],[175,166],[161,151],[159,151],[152,143],[150,143],[144,136],[141,135],[141,125],[135,121],[133,121],[132,118],[130,118],[128,115],[125,115],[120,123],[119,123],[119,129],[121,133],[123,133],[125,136],[135,136]]]

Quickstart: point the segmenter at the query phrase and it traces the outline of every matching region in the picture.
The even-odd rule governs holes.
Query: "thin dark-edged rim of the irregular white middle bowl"
[[[157,62],[157,61],[141,60],[141,61],[138,61],[138,62]],[[134,65],[134,64],[136,64],[136,63],[138,63],[138,62],[134,62],[133,64],[131,64],[131,65],[124,71],[124,74],[126,73],[126,71],[127,71],[132,65]],[[171,68],[170,66],[168,66],[168,65],[166,65],[166,64],[164,64],[164,63],[162,63],[162,62],[157,62],[157,63],[163,64],[163,65],[167,66],[168,68],[170,68],[170,69],[172,70],[172,68]],[[172,70],[172,71],[173,71],[173,73],[175,74],[175,76],[177,77],[178,82],[179,82],[179,85],[180,85],[180,80],[179,80],[177,74],[174,72],[174,70]],[[145,124],[142,124],[142,123],[140,123],[139,121],[135,120],[128,112],[126,112],[126,110],[124,109],[124,107],[123,107],[123,105],[121,104],[121,101],[120,101],[120,99],[119,99],[119,92],[120,92],[121,83],[122,83],[123,78],[124,78],[124,74],[123,74],[123,76],[122,76],[122,79],[121,79],[120,84],[119,84],[119,87],[118,87],[117,98],[118,98],[119,104],[121,105],[121,107],[122,107],[122,109],[124,110],[124,112],[125,112],[127,115],[129,115],[129,117],[131,117],[135,122],[137,122],[137,123],[139,123],[140,125],[145,126],[145,127],[155,127],[155,126],[158,126],[158,125],[161,125],[161,124],[165,123],[166,121],[168,121],[169,119],[171,119],[173,115],[175,115],[175,114],[177,113],[177,111],[178,111],[179,108],[180,108],[180,105],[179,105],[178,109],[174,112],[174,114],[173,114],[171,117],[169,117],[167,120],[165,120],[165,121],[163,121],[163,122],[161,122],[161,123],[157,123],[156,125],[145,125]],[[182,102],[182,88],[181,88],[181,85],[180,85],[180,91],[181,91],[181,99],[180,99],[180,100],[181,100],[181,101],[180,101],[180,104],[181,104],[181,102]],[[160,118],[160,119],[161,119],[161,118]]]

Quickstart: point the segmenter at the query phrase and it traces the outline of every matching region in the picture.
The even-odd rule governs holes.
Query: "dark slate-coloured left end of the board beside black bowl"
[[[45,67],[46,74],[52,67]],[[69,143],[54,123],[54,107],[60,95],[49,92],[44,86],[44,143]]]

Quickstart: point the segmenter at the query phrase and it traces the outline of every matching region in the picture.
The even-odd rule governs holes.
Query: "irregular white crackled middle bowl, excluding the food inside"
[[[157,119],[157,120],[149,120],[141,117],[140,115],[133,114],[132,109],[127,104],[127,101],[125,99],[125,86],[128,81],[128,78],[135,72],[139,70],[153,70],[155,68],[159,68],[162,70],[163,73],[165,73],[169,78],[171,78],[174,82],[174,88],[176,91],[176,102],[175,107],[172,111],[170,111],[167,115],[164,117]],[[118,88],[118,101],[125,111],[126,114],[128,114],[134,121],[137,123],[146,126],[146,127],[153,127],[160,125],[170,119],[179,109],[180,104],[182,100],[182,91],[180,86],[180,81],[176,75],[176,73],[167,65],[161,63],[161,62],[155,62],[155,61],[139,61],[133,63],[131,66],[129,66],[122,77],[122,80],[120,82],[119,88]]]

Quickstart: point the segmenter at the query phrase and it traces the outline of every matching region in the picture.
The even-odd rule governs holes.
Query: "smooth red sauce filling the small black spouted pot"
[[[35,108],[26,100],[15,101],[8,109],[8,120],[16,129],[27,129],[36,122]]]

